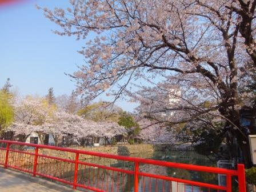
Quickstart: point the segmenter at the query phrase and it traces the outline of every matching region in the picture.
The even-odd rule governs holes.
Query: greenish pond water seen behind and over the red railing
[[[155,159],[160,161],[187,163],[190,165],[203,165],[216,167],[217,163],[212,162],[204,155],[200,155],[195,151],[165,151],[155,153],[141,153],[133,154],[131,157],[142,157],[147,159]],[[102,163],[102,158],[88,159],[91,163]],[[111,160],[112,161],[112,160]],[[134,170],[133,163],[115,161],[105,163],[106,166],[117,167],[125,170]],[[139,165],[139,171],[144,173],[165,175],[169,177],[189,179],[192,181],[206,182],[218,185],[218,175],[210,173],[195,172],[182,169],[174,169],[170,167],[154,166],[154,165]],[[92,176],[94,178],[92,179]],[[103,181],[96,185],[96,182]],[[95,179],[95,183],[94,183]],[[91,180],[91,181],[89,181]],[[80,166],[78,171],[78,182],[85,181],[87,186],[94,186],[98,189],[105,191],[134,191],[134,178],[128,174],[121,174],[114,171],[95,170],[93,167]],[[153,191],[209,191],[196,186],[184,185],[184,183],[163,181],[162,179],[154,179],[148,177],[139,177],[139,191],[140,192],[153,192]]]

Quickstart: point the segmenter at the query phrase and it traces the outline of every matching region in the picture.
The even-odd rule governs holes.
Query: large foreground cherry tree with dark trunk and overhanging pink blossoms
[[[230,127],[231,142],[237,139],[250,165],[248,139],[239,123],[238,104],[243,95],[238,86],[249,66],[255,67],[256,1],[70,3],[72,9],[43,11],[62,27],[56,34],[75,35],[77,39],[85,39],[91,32],[97,34],[79,51],[86,63],[70,75],[77,81],[78,93],[89,100],[106,90],[115,99],[125,94],[137,98],[142,94],[134,93],[131,85],[142,92],[148,89],[145,84],[166,91],[179,85],[184,89],[183,104],[165,108],[177,111],[172,117],[178,117],[167,121],[193,121],[218,111]],[[210,105],[203,105],[206,102]]]

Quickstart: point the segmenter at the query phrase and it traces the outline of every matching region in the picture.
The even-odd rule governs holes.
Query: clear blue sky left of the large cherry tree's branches
[[[69,1],[27,0],[0,8],[0,87],[10,78],[21,95],[46,95],[49,87],[54,88],[55,95],[69,95],[75,89],[75,82],[64,73],[73,73],[76,65],[83,64],[77,50],[85,41],[55,35],[51,30],[58,26],[46,19],[35,4],[65,8]],[[108,100],[104,96],[98,99]],[[127,111],[135,106],[125,101],[117,105]]]

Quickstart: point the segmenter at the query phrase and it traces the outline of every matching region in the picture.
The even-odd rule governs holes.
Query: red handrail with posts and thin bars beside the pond
[[[184,183],[184,190],[186,191],[186,186],[190,185],[191,189],[193,191],[194,187],[200,187],[200,191],[201,191],[201,187],[206,187],[209,190],[210,189],[215,189],[215,190],[226,190],[226,191],[231,191],[231,177],[233,176],[237,176],[238,177],[238,181],[239,181],[239,192],[245,192],[246,188],[245,188],[245,172],[244,172],[244,167],[243,165],[239,164],[238,165],[238,170],[228,170],[228,169],[222,169],[222,168],[217,168],[217,167],[206,167],[206,166],[198,166],[198,165],[187,165],[187,164],[183,164],[183,163],[173,163],[173,162],[166,162],[166,161],[157,161],[157,160],[152,160],[152,159],[143,159],[143,158],[137,158],[137,157],[125,157],[125,156],[121,156],[121,155],[112,155],[112,154],[105,154],[105,153],[97,153],[97,152],[93,152],[93,151],[84,151],[84,150],[78,150],[78,149],[70,149],[70,148],[63,148],[63,147],[55,147],[55,146],[47,146],[47,145],[38,145],[38,144],[33,144],[33,143],[23,143],[23,142],[17,142],[17,141],[6,141],[6,140],[0,140],[0,143],[6,143],[7,146],[6,148],[1,147],[0,148],[0,165],[3,165],[5,168],[7,167],[11,167],[13,169],[17,169],[17,170],[21,170],[21,171],[25,171],[27,173],[32,173],[33,176],[35,175],[39,175],[42,177],[47,177],[47,178],[51,178],[54,179],[56,181],[61,181],[63,183],[67,183],[69,185],[73,185],[73,189],[76,189],[76,187],[83,187],[85,189],[90,189],[93,191],[105,191],[103,189],[104,186],[104,181],[106,180],[105,178],[105,173],[107,174],[107,181],[106,181],[106,185],[107,185],[107,191],[109,190],[109,187],[111,186],[111,191],[113,191],[113,184],[114,184],[114,173],[117,174],[117,190],[119,190],[119,177],[123,177],[123,183],[125,182],[125,174],[127,175],[127,180],[128,180],[128,188],[130,186],[130,175],[133,175],[134,177],[134,191],[138,192],[138,187],[139,187],[139,177],[143,177],[143,191],[144,191],[144,187],[145,187],[145,178],[149,178],[149,187],[151,189],[151,179],[155,179],[155,187],[156,189],[158,189],[158,183],[159,180],[162,181],[162,190],[165,191],[165,185],[166,182],[177,182],[177,191],[178,191],[178,183]],[[11,145],[21,145],[21,146],[31,146],[31,147],[35,147],[35,152],[34,153],[29,153],[26,151],[22,151],[22,150],[14,150],[14,149],[10,149]],[[60,158],[60,157],[53,157],[50,155],[44,155],[44,154],[38,154],[38,149],[51,149],[51,150],[58,150],[58,151],[65,151],[65,152],[69,152],[69,153],[74,153],[75,154],[75,159],[65,159],[65,158]],[[5,159],[4,159],[4,163],[1,163],[1,151],[2,153],[5,151]],[[10,154],[9,153],[13,153]],[[129,161],[129,162],[133,162],[134,163],[134,170],[125,170],[125,169],[119,169],[119,168],[115,168],[115,167],[107,167],[104,165],[97,165],[95,163],[89,163],[89,162],[83,162],[83,161],[79,161],[79,154],[83,154],[83,155],[91,155],[94,157],[102,157],[102,158],[109,158],[109,159],[116,159],[116,160],[120,160],[120,161]],[[11,156],[13,155],[13,156]],[[29,168],[26,167],[22,167],[22,166],[17,166],[14,165],[14,160],[18,159],[17,161],[21,161],[21,157],[19,157],[19,155],[21,157],[23,157],[23,155],[27,158],[33,158],[33,170],[29,170]],[[9,161],[9,156],[12,158]],[[46,166],[43,166],[43,162],[42,159],[45,158],[47,160],[47,168]],[[41,162],[40,162],[41,160]],[[16,160],[15,160],[16,161]],[[54,161],[54,163],[52,163],[52,161]],[[57,163],[56,163],[57,162]],[[61,171],[60,173],[58,173],[58,171],[55,169],[57,169],[56,167],[58,166],[59,169],[59,165],[58,163],[60,163],[61,166]],[[67,167],[63,167],[62,168],[62,163],[64,165],[67,165]],[[52,165],[53,164],[53,165]],[[56,165],[55,165],[56,164]],[[164,175],[158,175],[158,174],[150,174],[150,173],[143,173],[141,171],[139,171],[139,165],[155,165],[155,166],[163,166],[163,167],[173,167],[173,168],[177,168],[177,169],[185,169],[185,170],[193,170],[193,171],[202,171],[202,172],[207,172],[207,173],[214,173],[214,174],[225,174],[227,177],[227,185],[226,186],[219,186],[219,185],[213,185],[213,184],[209,184],[209,183],[203,183],[203,182],[197,182],[197,181],[190,181],[190,180],[186,180],[186,179],[179,179],[179,178],[173,178],[173,177],[167,177]],[[50,165],[50,171],[48,170],[48,165]],[[69,165],[70,170],[69,170]],[[38,167],[40,167],[40,170],[37,170]],[[55,167],[56,166],[56,167]],[[85,167],[85,172],[86,172],[86,166],[89,167],[89,173],[85,173],[85,176],[80,176],[80,177],[85,177],[85,178],[78,178],[78,171],[83,171],[83,169],[81,168],[82,166]],[[79,167],[81,169],[79,169]],[[90,170],[93,167],[93,173],[90,173]],[[94,177],[95,177],[95,167],[97,167],[97,186],[95,187],[95,183],[94,183]],[[46,169],[46,172],[45,172]],[[53,169],[53,170],[52,170]],[[65,172],[64,169],[67,169],[68,171]],[[99,169],[102,169],[103,172],[101,175],[99,175]],[[43,173],[42,173],[43,171]],[[52,173],[53,171],[53,173]],[[105,171],[105,172],[104,172]],[[112,183],[109,184],[108,179],[109,179],[109,171],[112,171]],[[59,175],[57,175],[57,173]],[[71,178],[73,178],[73,181],[67,181],[64,178],[63,175],[65,173],[70,173]],[[104,173],[104,174],[103,174]],[[93,179],[92,181],[90,181],[90,177],[91,174],[93,174]],[[121,174],[121,175],[120,175]],[[120,176],[119,176],[120,175]],[[122,176],[123,175],[123,176]],[[82,183],[82,181],[85,181],[86,176],[89,177],[87,184]],[[100,183],[100,177],[102,177],[102,183],[101,186],[99,185]],[[92,183],[92,186],[91,184]],[[122,183],[122,184],[123,184]],[[109,184],[109,185],[108,185]],[[124,184],[123,184],[124,185]],[[169,187],[173,187],[171,186],[171,183],[169,183]],[[123,190],[124,186],[122,186]],[[182,188],[183,189],[183,188]]]

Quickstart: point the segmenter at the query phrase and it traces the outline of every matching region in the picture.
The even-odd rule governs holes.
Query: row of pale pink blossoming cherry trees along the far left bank
[[[15,122],[8,131],[14,131],[25,142],[31,133],[53,135],[55,145],[67,135],[73,139],[98,137],[110,139],[116,135],[125,135],[126,129],[114,122],[94,122],[78,115],[59,111],[42,98],[25,97],[15,102]]]

